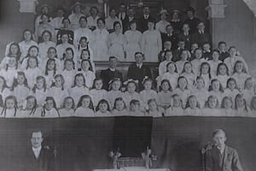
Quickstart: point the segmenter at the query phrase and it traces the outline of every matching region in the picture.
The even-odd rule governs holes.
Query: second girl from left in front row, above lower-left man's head
[[[29,95],[22,106],[22,110],[17,117],[38,117],[41,111],[38,109],[37,99],[35,96]]]

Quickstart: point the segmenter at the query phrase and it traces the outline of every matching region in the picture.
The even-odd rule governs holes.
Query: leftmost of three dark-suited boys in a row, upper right
[[[170,41],[172,43],[172,50],[177,49],[177,34],[173,33],[172,25],[166,26],[166,33],[161,33],[162,44],[166,41]]]

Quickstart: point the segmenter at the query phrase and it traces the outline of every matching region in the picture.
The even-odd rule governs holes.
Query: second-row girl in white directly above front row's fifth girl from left
[[[71,97],[73,97],[75,104],[78,104],[79,99],[82,95],[89,94],[89,88],[86,87],[85,78],[82,73],[78,73],[75,75],[74,85],[68,90],[68,93]]]

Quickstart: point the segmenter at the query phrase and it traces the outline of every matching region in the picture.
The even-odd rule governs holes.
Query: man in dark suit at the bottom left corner
[[[23,157],[26,160],[24,171],[55,171],[54,152],[42,145],[43,140],[41,131],[32,132],[32,146],[26,151],[26,157]]]

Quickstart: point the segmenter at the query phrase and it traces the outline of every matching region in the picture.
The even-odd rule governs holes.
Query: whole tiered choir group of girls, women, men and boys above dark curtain
[[[210,116],[255,117],[255,80],[234,46],[212,50],[195,9],[161,10],[155,24],[148,7],[143,16],[120,5],[119,14],[90,16],[73,5],[49,16],[44,5],[35,31],[7,45],[0,68],[0,117]],[[123,9],[122,9],[123,8]],[[146,24],[145,24],[146,23]],[[146,28],[147,27],[147,28]],[[96,75],[95,61],[136,61],[123,77]],[[144,62],[159,62],[152,77]],[[110,71],[115,73],[115,67]]]

